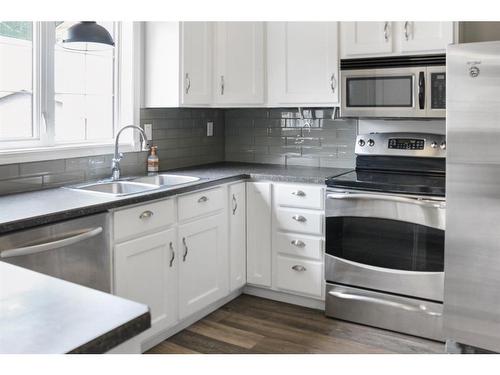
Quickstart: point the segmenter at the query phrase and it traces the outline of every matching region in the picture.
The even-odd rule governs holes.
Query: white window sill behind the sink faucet
[[[138,151],[138,147],[130,143],[120,145],[120,152],[133,151]],[[104,155],[113,152],[114,144],[112,143],[64,145],[19,150],[0,149],[0,165]]]

